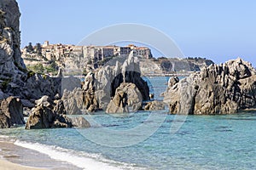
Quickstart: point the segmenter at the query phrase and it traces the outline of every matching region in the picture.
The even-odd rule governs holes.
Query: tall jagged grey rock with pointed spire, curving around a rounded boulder
[[[106,110],[108,103],[113,98],[116,88],[122,82],[136,84],[143,100],[149,99],[149,88],[147,82],[143,80],[140,73],[139,61],[132,52],[123,64],[116,61],[115,65],[107,65],[95,73],[90,72],[85,77],[83,89],[92,90],[96,94],[99,109]]]

